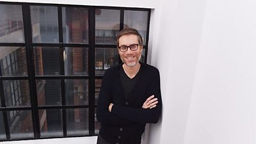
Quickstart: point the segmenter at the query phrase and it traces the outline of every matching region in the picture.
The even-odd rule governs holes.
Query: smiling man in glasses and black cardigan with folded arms
[[[120,31],[117,47],[123,63],[109,68],[102,79],[97,144],[140,144],[145,124],[157,123],[161,114],[159,71],[139,62],[143,40],[136,29]]]

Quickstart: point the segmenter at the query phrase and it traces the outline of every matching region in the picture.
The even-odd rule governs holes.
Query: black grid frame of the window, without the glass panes
[[[95,133],[95,109],[97,104],[95,104],[95,79],[102,79],[102,76],[95,76],[95,48],[113,49],[116,45],[109,44],[95,44],[95,9],[109,9],[109,10],[120,10],[120,29],[124,28],[124,11],[134,10],[134,11],[146,11],[148,12],[147,18],[147,37],[143,49],[145,49],[144,63],[147,63],[147,53],[148,53],[148,35],[149,35],[149,25],[150,25],[150,13],[149,8],[126,8],[126,7],[113,7],[113,6],[86,6],[86,5],[70,5],[70,4],[45,4],[45,3],[17,3],[17,2],[0,2],[0,4],[11,4],[20,5],[22,7],[22,17],[24,24],[24,42],[23,43],[0,43],[0,47],[4,46],[15,46],[15,47],[25,47],[26,48],[26,61],[28,76],[1,76],[0,68],[0,99],[1,107],[0,112],[3,113],[4,131],[6,134],[6,140],[1,141],[16,141],[16,140],[37,140],[45,139],[45,137],[40,137],[40,120],[38,117],[38,111],[40,109],[61,109],[62,120],[63,120],[63,136],[51,136],[47,138],[68,138],[68,137],[79,137],[79,136],[97,136]],[[31,13],[30,6],[56,6],[58,8],[58,43],[33,43],[32,29],[31,29]],[[87,8],[88,9],[88,44],[65,44],[63,43],[63,26],[62,26],[62,8],[72,7],[72,8]],[[119,30],[120,30],[119,29]],[[33,47],[59,47],[60,48],[60,75],[58,76],[36,76],[35,73],[35,61],[33,60]],[[63,51],[65,47],[88,47],[88,76],[65,76],[64,72],[64,62],[63,62]],[[119,63],[122,61],[119,58]],[[7,62],[6,62],[7,63]],[[0,63],[1,65],[1,63]],[[1,67],[3,67],[1,65]],[[104,70],[104,68],[103,68]],[[36,80],[40,79],[59,79],[61,81],[61,106],[38,106],[38,101],[36,97]],[[88,80],[88,105],[65,105],[65,79],[87,79]],[[6,99],[4,98],[4,88],[3,81],[6,80],[28,80],[29,81],[29,93],[31,106],[19,106],[19,107],[6,107]],[[88,122],[89,122],[89,134],[81,134],[68,136],[67,135],[67,119],[66,119],[66,109],[76,109],[76,108],[87,108],[89,110]],[[33,121],[33,138],[15,138],[12,139],[10,136],[10,129],[8,127],[8,113],[11,111],[21,111],[29,110],[32,114]]]

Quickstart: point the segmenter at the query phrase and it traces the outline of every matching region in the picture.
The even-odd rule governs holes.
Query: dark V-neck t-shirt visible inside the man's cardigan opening
[[[129,93],[132,91],[132,88],[134,87],[134,85],[140,75],[140,70],[136,74],[136,76],[134,76],[132,79],[130,77],[128,77],[127,74],[125,74],[123,67],[120,68],[119,74],[120,74],[122,86],[124,88],[124,97],[125,97],[125,99],[127,99]]]

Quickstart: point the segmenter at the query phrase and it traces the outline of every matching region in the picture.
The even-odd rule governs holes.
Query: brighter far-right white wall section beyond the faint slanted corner
[[[186,144],[256,143],[256,1],[208,0]]]

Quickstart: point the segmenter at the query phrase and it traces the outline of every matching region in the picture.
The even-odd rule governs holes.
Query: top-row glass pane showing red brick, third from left
[[[62,8],[63,42],[88,44],[87,8]]]

